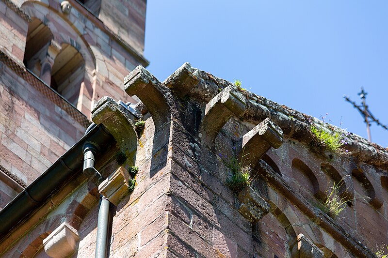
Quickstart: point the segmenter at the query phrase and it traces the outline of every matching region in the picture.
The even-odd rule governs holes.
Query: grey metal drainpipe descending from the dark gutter
[[[85,131],[85,135],[96,124],[92,123]],[[83,147],[83,173],[92,181],[97,187],[104,181],[102,175],[94,167],[97,147],[92,142],[87,142]],[[96,239],[96,253],[95,258],[106,258],[108,245],[108,220],[109,220],[109,206],[110,202],[107,197],[101,196],[100,208],[98,210],[97,220],[97,239]]]

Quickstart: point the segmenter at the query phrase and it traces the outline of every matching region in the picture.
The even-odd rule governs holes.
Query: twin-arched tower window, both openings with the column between
[[[85,61],[70,44],[57,46],[48,26],[32,18],[29,25],[24,64],[48,86],[77,105],[85,76]]]

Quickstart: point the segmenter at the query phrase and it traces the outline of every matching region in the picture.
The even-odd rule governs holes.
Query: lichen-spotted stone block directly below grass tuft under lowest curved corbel
[[[270,211],[270,205],[249,185],[239,193],[238,211],[251,223],[259,221]]]

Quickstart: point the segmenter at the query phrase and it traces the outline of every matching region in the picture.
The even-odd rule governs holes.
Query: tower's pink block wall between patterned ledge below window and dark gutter
[[[18,78],[6,63],[0,63],[0,71],[0,166],[24,188],[81,138],[85,129]],[[1,195],[1,208],[20,192],[14,190],[12,195]]]

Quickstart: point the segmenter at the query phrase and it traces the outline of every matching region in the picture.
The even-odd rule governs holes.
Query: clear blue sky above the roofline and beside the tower
[[[372,114],[388,125],[388,1],[148,0],[147,69],[164,80],[193,67],[307,115],[367,137],[361,86]],[[372,141],[388,132],[372,125]]]

